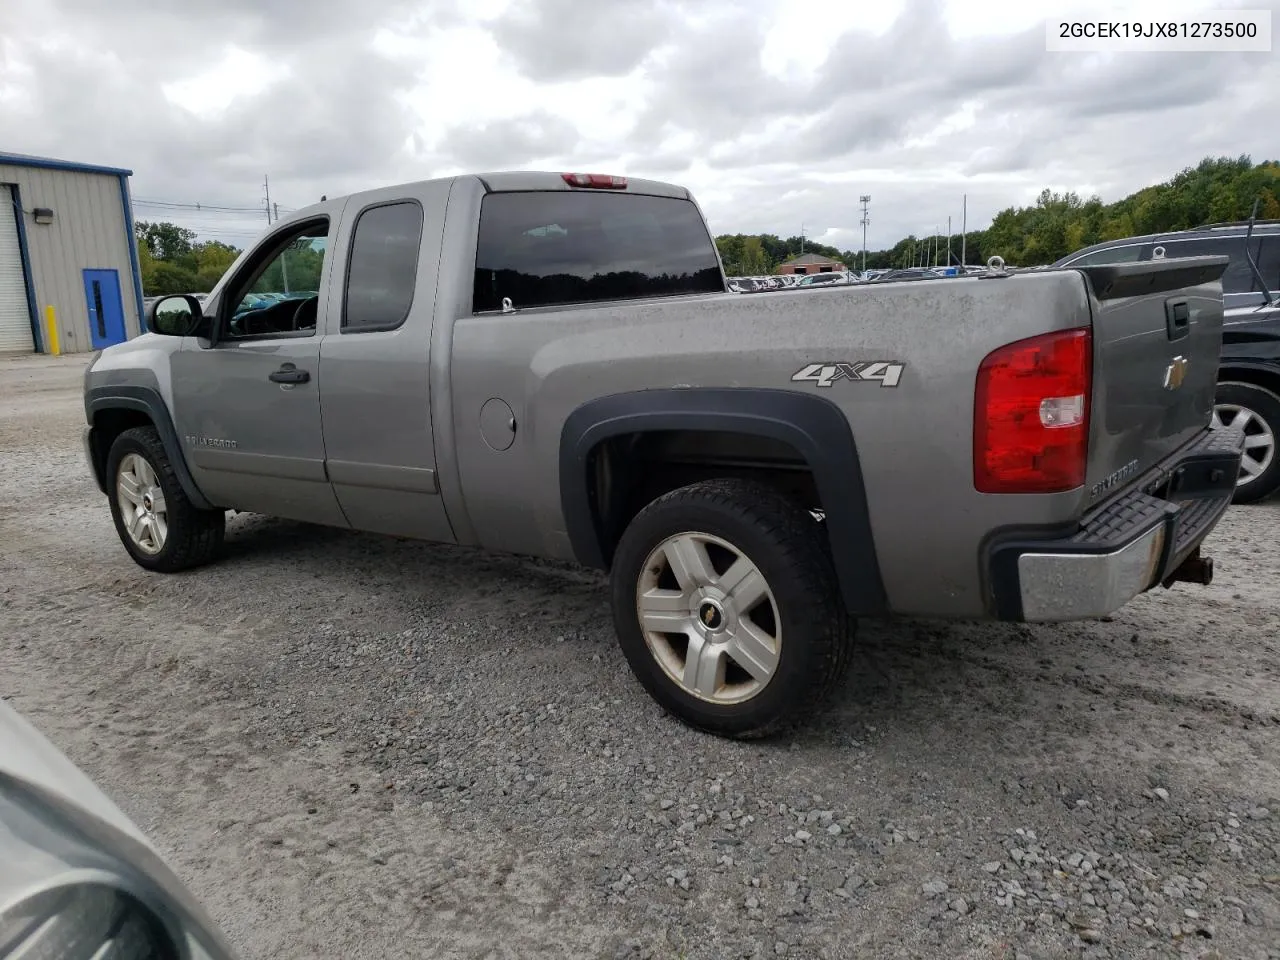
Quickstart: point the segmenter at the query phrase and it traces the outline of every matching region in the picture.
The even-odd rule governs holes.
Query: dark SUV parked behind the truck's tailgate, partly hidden
[[[1245,253],[1253,253],[1253,265]],[[1280,220],[1208,224],[1193,230],[1107,241],[1053,264],[1093,266],[1162,257],[1219,255],[1231,262],[1222,275],[1222,360],[1215,420],[1244,426],[1245,449],[1236,503],[1253,503],[1280,488]]]

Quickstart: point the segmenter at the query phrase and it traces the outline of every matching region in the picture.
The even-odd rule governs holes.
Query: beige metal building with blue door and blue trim
[[[137,337],[132,170],[0,154],[0,353]]]

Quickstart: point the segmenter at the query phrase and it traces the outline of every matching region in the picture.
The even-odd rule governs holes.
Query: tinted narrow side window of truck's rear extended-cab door
[[[365,209],[356,220],[347,264],[343,333],[394,330],[413,303],[422,207],[416,201]]]

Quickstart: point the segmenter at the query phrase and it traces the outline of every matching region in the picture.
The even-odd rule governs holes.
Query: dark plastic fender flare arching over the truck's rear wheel
[[[841,594],[849,612],[888,609],[876,556],[867,489],[849,420],[831,401],[769,388],[672,388],[616,393],[573,410],[561,430],[561,508],[579,562],[608,570],[591,489],[591,456],[613,436],[653,430],[716,430],[751,434],[792,445],[813,471],[826,513]]]

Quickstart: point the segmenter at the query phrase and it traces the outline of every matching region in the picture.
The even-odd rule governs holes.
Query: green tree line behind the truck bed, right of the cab
[[[965,237],[965,260],[983,264],[1001,256],[1016,266],[1039,266],[1102,241],[1146,233],[1184,230],[1206,223],[1244,220],[1254,200],[1260,219],[1280,219],[1280,163],[1254,164],[1249,156],[1204,157],[1165,183],[1144,187],[1123,200],[1103,204],[1074,192],[1046,189],[1033,206],[1007,207],[984,230]],[[948,262],[947,238],[904,237],[888,250],[867,251],[868,269]],[[818,253],[861,269],[861,251],[837,250],[800,237],[724,234],[716,238],[730,276],[769,274],[799,255]],[[951,260],[959,262],[960,237],[951,237]]]

